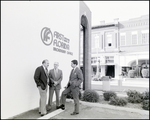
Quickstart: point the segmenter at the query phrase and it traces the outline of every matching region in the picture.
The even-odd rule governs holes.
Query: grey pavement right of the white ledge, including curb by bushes
[[[149,111],[80,101],[80,114],[70,115],[74,102],[67,100],[66,110],[50,119],[149,119]]]

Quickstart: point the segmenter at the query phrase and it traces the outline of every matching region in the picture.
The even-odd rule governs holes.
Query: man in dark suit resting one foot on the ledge
[[[78,61],[72,60],[71,61],[71,67],[73,68],[70,77],[69,82],[67,84],[66,89],[62,92],[61,95],[61,105],[59,108],[65,109],[65,102],[66,102],[66,96],[69,92],[72,92],[75,107],[74,112],[71,113],[71,115],[79,114],[79,90],[80,90],[80,84],[83,82],[83,74],[82,71],[77,67]]]

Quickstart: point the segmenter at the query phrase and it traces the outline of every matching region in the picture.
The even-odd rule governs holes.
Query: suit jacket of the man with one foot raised
[[[71,84],[70,84],[71,81]],[[76,69],[70,73],[69,82],[67,87],[75,88],[80,87],[81,83],[83,82],[83,74],[82,71],[76,67]]]

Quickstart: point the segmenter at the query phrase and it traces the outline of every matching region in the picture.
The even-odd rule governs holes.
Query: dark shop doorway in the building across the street
[[[112,78],[115,77],[115,66],[114,65],[106,66],[106,76],[111,76]]]

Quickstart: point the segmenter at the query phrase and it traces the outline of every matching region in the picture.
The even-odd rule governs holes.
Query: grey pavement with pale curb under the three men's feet
[[[102,91],[97,91],[102,95]],[[125,94],[117,93],[118,96]],[[72,99],[66,100],[66,109],[55,109],[53,106],[49,114],[41,117],[38,114],[38,108],[30,110],[11,119],[149,119],[149,111],[118,107],[108,104],[90,103],[80,101],[80,114],[70,115],[74,110],[74,102]]]

